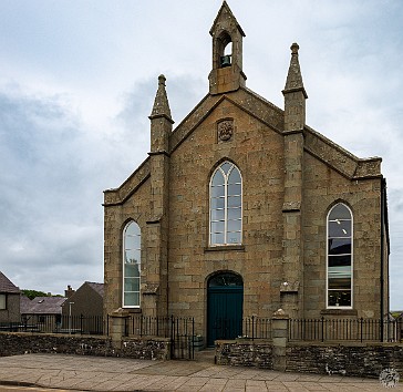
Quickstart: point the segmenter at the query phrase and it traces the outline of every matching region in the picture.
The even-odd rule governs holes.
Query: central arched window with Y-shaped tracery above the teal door
[[[242,237],[242,179],[237,166],[224,162],[210,179],[209,244],[237,245]]]

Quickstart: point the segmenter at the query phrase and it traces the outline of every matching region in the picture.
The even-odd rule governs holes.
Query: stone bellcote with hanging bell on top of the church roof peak
[[[226,1],[210,29],[213,37],[213,70],[208,76],[210,94],[223,94],[245,86],[242,71],[244,30]]]

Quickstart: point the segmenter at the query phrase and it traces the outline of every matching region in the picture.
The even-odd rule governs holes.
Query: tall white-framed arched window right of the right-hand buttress
[[[342,203],[337,204],[328,215],[328,308],[352,307],[352,231],[350,208]]]

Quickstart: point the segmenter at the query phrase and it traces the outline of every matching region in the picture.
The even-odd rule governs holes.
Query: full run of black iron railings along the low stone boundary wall
[[[111,317],[68,314],[24,314],[19,322],[0,323],[0,332],[48,332],[71,334],[110,334]],[[272,319],[256,316],[244,319],[217,318],[214,322],[217,339],[271,339]],[[200,331],[197,331],[200,333]],[[203,333],[202,333],[203,334]],[[125,337],[169,338],[173,349],[183,350],[195,337],[194,318],[144,317],[125,319]],[[403,340],[402,319],[289,319],[290,341],[384,341]],[[192,348],[190,348],[192,349]],[[188,349],[187,349],[188,350]],[[193,351],[193,349],[190,350]],[[190,354],[193,357],[193,354]]]

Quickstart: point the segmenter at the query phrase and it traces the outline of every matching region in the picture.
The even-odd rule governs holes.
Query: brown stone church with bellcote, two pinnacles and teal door
[[[297,43],[280,109],[246,86],[245,33],[226,1],[210,34],[207,95],[173,128],[161,75],[151,152],[104,193],[105,313],[194,317],[209,343],[218,318],[269,318],[279,308],[299,318],[382,317],[382,159],[359,158],[306,124]]]

